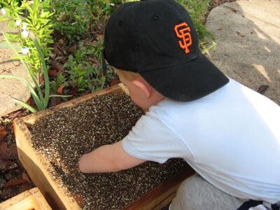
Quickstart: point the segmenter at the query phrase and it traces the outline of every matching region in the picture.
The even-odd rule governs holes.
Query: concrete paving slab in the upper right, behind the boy
[[[233,9],[232,9],[233,8]],[[235,13],[236,10],[236,13]],[[209,59],[253,90],[280,104],[280,1],[240,0],[211,10],[206,27],[216,36]]]

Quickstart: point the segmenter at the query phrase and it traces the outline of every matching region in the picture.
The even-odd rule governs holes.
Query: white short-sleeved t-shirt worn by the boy
[[[152,106],[123,148],[161,163],[184,158],[235,197],[280,200],[280,106],[233,79],[193,102],[164,99]]]

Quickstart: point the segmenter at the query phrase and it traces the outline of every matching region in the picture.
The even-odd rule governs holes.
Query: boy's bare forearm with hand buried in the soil
[[[118,141],[83,155],[78,167],[83,173],[118,172],[140,165],[145,161],[127,154],[123,149],[122,142]]]

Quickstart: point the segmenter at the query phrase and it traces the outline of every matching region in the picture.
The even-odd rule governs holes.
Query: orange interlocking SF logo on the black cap
[[[186,22],[182,22],[174,27],[174,31],[176,36],[182,39],[179,41],[180,48],[188,54],[190,52],[188,47],[193,43],[192,36],[190,36],[190,27]]]

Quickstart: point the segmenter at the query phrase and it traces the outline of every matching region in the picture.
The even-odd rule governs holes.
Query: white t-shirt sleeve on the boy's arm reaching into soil
[[[134,158],[166,162],[169,158],[188,157],[188,147],[171,127],[148,112],[122,140],[124,150]]]

